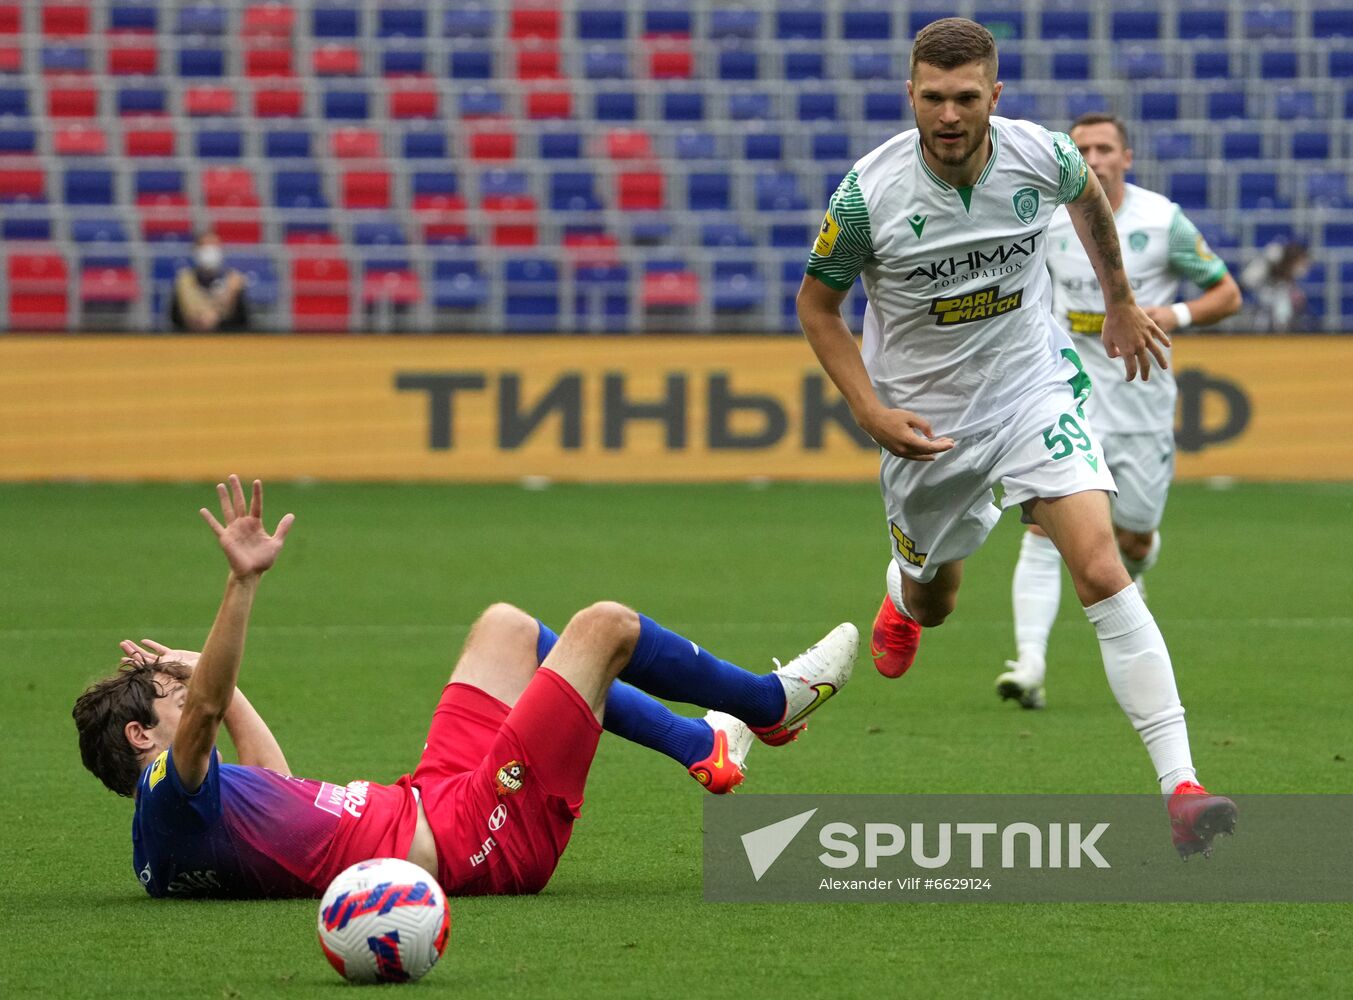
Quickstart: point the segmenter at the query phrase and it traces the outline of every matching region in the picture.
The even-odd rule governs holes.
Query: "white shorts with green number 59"
[[[917,583],[966,559],[1001,512],[1035,497],[1115,493],[1114,475],[1069,386],[1032,399],[1004,424],[959,438],[935,461],[884,453],[879,484],[893,560]]]

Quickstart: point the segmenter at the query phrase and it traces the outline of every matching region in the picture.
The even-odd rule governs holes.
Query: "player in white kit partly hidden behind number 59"
[[[1123,267],[1143,311],[1166,333],[1207,326],[1241,307],[1241,288],[1226,264],[1168,198],[1126,183],[1132,147],[1123,122],[1114,115],[1081,115],[1072,142],[1099,179],[1118,225]],[[1104,325],[1104,295],[1089,257],[1065,208],[1047,227],[1047,269],[1053,276],[1053,315],[1077,345],[1095,391],[1085,414],[1104,447],[1118,483],[1114,532],[1128,574],[1141,587],[1161,551],[1160,524],[1174,474],[1174,376],[1160,371],[1150,382],[1123,382],[1118,364],[1099,342]],[[1177,302],[1180,281],[1203,294]],[[1145,593],[1145,591],[1143,591]],[[1015,566],[1015,645],[996,678],[1003,698],[1024,708],[1043,708],[1047,636],[1062,595],[1062,558],[1038,525],[1030,525]]]

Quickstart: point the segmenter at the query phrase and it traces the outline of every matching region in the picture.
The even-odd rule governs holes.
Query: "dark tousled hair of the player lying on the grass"
[[[127,723],[147,729],[160,725],[156,698],[164,697],[161,678],[187,682],[192,671],[177,660],[123,666],[85,689],[70,716],[80,733],[80,758],[99,781],[119,796],[131,797],[141,778],[141,758],[127,742]]]

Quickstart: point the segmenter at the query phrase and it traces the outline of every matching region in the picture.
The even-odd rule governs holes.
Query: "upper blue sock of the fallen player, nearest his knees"
[[[620,673],[648,694],[712,708],[748,725],[774,725],[785,717],[785,687],[774,674],[752,674],[639,616],[639,641]]]

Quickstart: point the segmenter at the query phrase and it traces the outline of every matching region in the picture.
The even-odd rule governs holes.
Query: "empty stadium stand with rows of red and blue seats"
[[[1341,0],[0,3],[0,327],[165,329],[212,227],[264,329],[790,332],[950,14],[1000,39],[1003,114],[1123,115],[1135,180],[1233,271],[1308,241],[1353,330]]]

